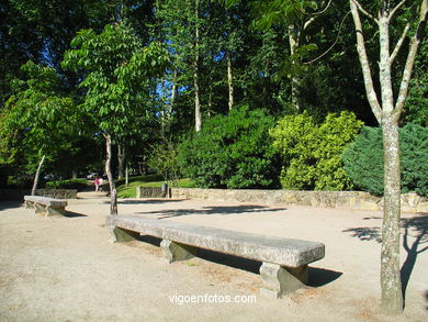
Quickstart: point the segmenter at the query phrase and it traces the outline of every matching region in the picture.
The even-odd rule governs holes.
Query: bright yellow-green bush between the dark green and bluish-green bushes
[[[330,113],[318,125],[306,112],[286,115],[270,131],[283,157],[284,189],[345,190],[351,188],[340,154],[352,142],[362,122],[350,112]]]

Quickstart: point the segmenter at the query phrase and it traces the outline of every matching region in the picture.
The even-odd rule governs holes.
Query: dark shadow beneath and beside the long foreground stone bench
[[[139,236],[138,241],[151,244],[157,247],[160,247],[160,242],[161,242],[160,238],[148,236],[148,235]],[[248,258],[243,258],[238,256],[227,255],[227,254],[202,249],[202,248],[198,249],[198,257],[205,259],[207,262],[213,262],[219,265],[229,266],[233,268],[246,270],[257,275],[259,274],[260,266],[261,266],[261,262],[258,260],[252,260]],[[308,271],[309,281],[307,286],[322,287],[335,281],[341,275],[342,273],[340,271],[335,271],[335,270],[329,270],[329,269],[318,268],[318,267],[309,267],[309,271]]]

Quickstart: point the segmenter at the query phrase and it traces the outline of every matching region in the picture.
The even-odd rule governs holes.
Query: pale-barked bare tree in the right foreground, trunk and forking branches
[[[382,309],[386,312],[403,310],[403,293],[399,276],[399,218],[401,177],[398,121],[407,98],[409,81],[419,44],[423,40],[428,0],[378,1],[376,14],[363,7],[362,1],[350,0],[349,5],[356,25],[357,49],[364,78],[367,97],[383,133],[384,146],[384,212],[382,225],[381,286]],[[393,45],[392,24],[399,11],[407,11],[402,34]],[[418,13],[418,14],[417,14]],[[372,77],[372,64],[367,53],[364,30],[360,14],[376,25],[379,31],[379,82],[376,90]],[[412,16],[414,20],[408,19]],[[396,22],[395,22],[396,23]],[[393,63],[408,43],[407,58],[401,75],[394,75]],[[394,96],[394,78],[401,77],[399,89]]]

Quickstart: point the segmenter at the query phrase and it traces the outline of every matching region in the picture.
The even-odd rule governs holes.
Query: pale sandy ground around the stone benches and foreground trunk
[[[120,202],[120,214],[325,243],[309,286],[274,300],[258,292],[260,263],[206,253],[167,264],[158,241],[111,242],[108,199],[71,200],[67,209],[65,218],[45,219],[0,203],[0,321],[428,321],[426,213],[403,215],[406,308],[392,318],[379,312],[380,212]],[[222,302],[228,299],[251,302]]]

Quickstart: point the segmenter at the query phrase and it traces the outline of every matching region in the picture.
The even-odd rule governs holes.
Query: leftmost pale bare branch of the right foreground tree
[[[373,111],[374,116],[376,118],[378,122],[381,124],[382,123],[382,108],[381,108],[381,104],[379,103],[378,95],[376,95],[376,92],[374,90],[374,86],[373,86],[373,78],[372,78],[372,73],[370,70],[370,63],[369,63],[369,58],[368,58],[367,51],[365,51],[364,34],[362,31],[360,14],[359,14],[359,11],[358,11],[358,8],[357,8],[354,0],[349,0],[349,4],[351,7],[353,23],[356,25],[357,49],[358,49],[358,56],[360,58],[362,75],[364,78],[364,87],[365,87],[367,97],[368,97],[368,100],[369,100],[369,103],[370,103],[370,107]]]

